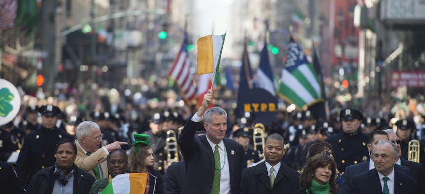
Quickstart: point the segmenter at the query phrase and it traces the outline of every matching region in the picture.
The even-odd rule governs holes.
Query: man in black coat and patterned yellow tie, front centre
[[[244,194],[292,194],[299,189],[300,174],[281,162],[284,139],[274,133],[267,137],[265,161],[242,171]]]

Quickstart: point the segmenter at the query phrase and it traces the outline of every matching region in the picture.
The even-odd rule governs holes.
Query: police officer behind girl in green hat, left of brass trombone
[[[161,117],[160,113],[155,113],[149,123],[150,130],[145,134],[149,135],[149,140],[154,145],[155,162],[158,163],[158,171],[164,175],[164,163],[167,163],[167,156],[165,154],[165,140],[167,133],[163,130],[165,120],[164,116]]]

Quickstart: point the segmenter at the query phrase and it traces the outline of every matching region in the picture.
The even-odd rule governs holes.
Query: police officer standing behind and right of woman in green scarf
[[[359,131],[363,114],[357,109],[340,111],[342,131],[325,139],[334,148],[334,160],[343,175],[345,168],[369,160],[368,136]]]

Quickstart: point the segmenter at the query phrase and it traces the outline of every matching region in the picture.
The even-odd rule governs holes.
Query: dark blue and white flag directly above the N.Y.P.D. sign
[[[267,90],[270,94],[276,95],[266,41],[264,41],[264,48],[261,51],[260,66],[257,69],[257,79],[257,83],[255,84],[257,88],[262,88]]]

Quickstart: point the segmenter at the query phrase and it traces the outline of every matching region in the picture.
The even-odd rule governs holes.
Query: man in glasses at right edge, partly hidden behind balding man
[[[414,178],[419,185],[419,193],[425,194],[425,168],[424,165],[412,161],[408,161],[406,159],[401,158],[401,148],[400,148],[400,139],[395,134],[395,132],[392,129],[386,129],[384,130],[386,133],[388,133],[389,141],[393,142],[395,146],[397,147],[398,154],[397,157],[399,158],[397,160],[397,164],[405,166],[409,168],[409,176]]]

